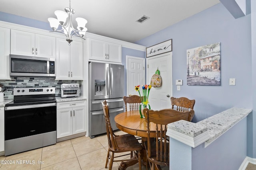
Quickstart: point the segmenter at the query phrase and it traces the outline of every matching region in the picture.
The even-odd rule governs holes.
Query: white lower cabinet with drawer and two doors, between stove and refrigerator
[[[57,138],[86,131],[85,100],[57,103]]]

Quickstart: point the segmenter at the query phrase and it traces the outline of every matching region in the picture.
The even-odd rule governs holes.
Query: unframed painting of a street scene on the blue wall
[[[187,84],[220,86],[220,43],[187,50]]]

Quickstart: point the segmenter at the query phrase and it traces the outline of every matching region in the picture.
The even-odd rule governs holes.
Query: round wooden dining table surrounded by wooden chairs
[[[116,127],[121,131],[140,137],[148,137],[145,118],[140,118],[140,111],[126,111],[115,116]],[[156,124],[150,123],[150,129],[156,129]],[[153,131],[155,132],[155,131]],[[156,137],[150,133],[150,137]]]

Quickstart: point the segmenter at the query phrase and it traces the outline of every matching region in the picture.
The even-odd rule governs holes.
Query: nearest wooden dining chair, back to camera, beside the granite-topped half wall
[[[148,135],[144,147],[146,149],[150,169],[154,170],[156,166],[156,169],[161,170],[162,166],[169,166],[169,142],[166,136],[168,123],[178,120],[190,121],[192,115],[194,115],[194,110],[182,112],[174,109],[162,109],[154,111],[144,108],[143,113],[146,119]],[[154,134],[155,140],[154,138],[150,138],[150,136],[152,137],[151,133]],[[148,166],[148,162],[146,166]],[[146,167],[146,169],[148,169],[148,167]]]

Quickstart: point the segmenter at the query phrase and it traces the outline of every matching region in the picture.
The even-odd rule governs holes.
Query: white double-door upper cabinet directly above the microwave
[[[11,54],[55,59],[56,38],[12,29]]]

